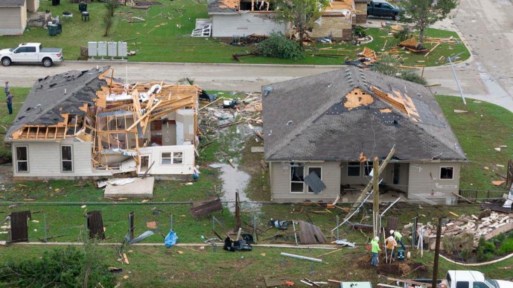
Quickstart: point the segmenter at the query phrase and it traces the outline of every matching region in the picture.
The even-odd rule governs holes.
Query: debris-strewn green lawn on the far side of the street
[[[176,8],[186,9],[183,15],[175,10]],[[28,27],[22,36],[0,36],[2,47],[15,47],[23,42],[41,42],[45,47],[57,47],[64,49],[66,60],[76,60],[80,57],[80,46],[87,46],[91,41],[130,40],[128,49],[136,51],[135,56],[129,56],[130,61],[162,61],[162,62],[192,62],[192,63],[237,63],[232,60],[233,53],[251,51],[251,47],[234,47],[228,43],[214,38],[189,37],[195,27],[196,18],[208,18],[206,2],[193,0],[174,0],[163,2],[163,5],[154,5],[149,10],[131,9],[128,6],[121,6],[117,12],[133,12],[128,15],[116,14],[114,24],[109,36],[104,37],[103,15],[106,8],[103,3],[93,2],[88,4],[88,11],[91,15],[89,22],[82,22],[78,12],[78,4],[62,2],[60,6],[51,6],[51,2],[42,1],[40,11],[49,9],[52,15],[61,15],[63,11],[73,13],[73,18],[65,20],[63,33],[50,37],[48,31],[40,28]],[[123,20],[126,17],[141,17],[146,19],[144,23],[128,23]],[[169,18],[171,19],[169,19]],[[387,35],[385,28],[369,28],[367,33],[374,37],[373,42],[365,45],[381,52],[381,49],[388,50],[399,43],[399,40]],[[456,32],[426,29],[426,36],[432,37],[456,37]],[[386,46],[385,46],[386,42]],[[136,44],[136,45],[134,45]],[[426,43],[430,49],[434,44]],[[343,50],[321,50],[318,48],[343,49]],[[356,57],[356,53],[362,51],[362,46],[351,46],[348,43],[341,44],[312,44],[307,46],[306,55],[300,60],[278,59],[259,56],[241,57],[242,63],[258,64],[310,64],[310,65],[340,65],[344,63],[346,56],[337,58],[312,56],[311,53],[325,54],[347,54],[349,58]],[[401,53],[405,66],[425,65],[438,66],[445,64],[439,61],[441,56],[456,55],[463,52],[460,57],[464,60],[470,54],[465,46],[460,43],[455,46],[441,44],[431,52],[428,57],[417,54]],[[423,62],[419,62],[423,61]]]

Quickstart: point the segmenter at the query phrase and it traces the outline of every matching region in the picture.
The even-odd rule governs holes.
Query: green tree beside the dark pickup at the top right
[[[445,19],[458,4],[459,0],[404,0],[400,3],[404,9],[401,19],[405,23],[413,24],[419,30],[419,44],[422,46],[424,29]]]

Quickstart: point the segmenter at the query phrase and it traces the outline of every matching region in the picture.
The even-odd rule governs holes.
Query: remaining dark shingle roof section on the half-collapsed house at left
[[[109,67],[91,70],[72,70],[36,81],[25,99],[6,138],[25,125],[55,125],[62,122],[61,114],[84,115],[78,108],[93,105],[96,91],[107,86],[105,79],[98,76]],[[14,95],[16,96],[16,95]]]

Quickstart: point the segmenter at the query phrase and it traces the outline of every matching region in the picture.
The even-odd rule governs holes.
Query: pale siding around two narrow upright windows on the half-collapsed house
[[[72,146],[73,171],[61,171],[61,145]],[[29,171],[16,171],[16,146],[28,147]],[[14,177],[88,177],[111,175],[107,171],[92,171],[91,142],[64,140],[61,142],[18,142],[12,143],[13,173]]]

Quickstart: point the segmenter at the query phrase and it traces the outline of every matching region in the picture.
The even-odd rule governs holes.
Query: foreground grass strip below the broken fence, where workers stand
[[[14,244],[8,248],[0,246],[0,260],[22,258],[37,258],[43,251],[53,249],[54,246]],[[165,247],[132,246],[127,253],[130,264],[117,262],[119,251],[116,247],[101,246],[106,262],[109,266],[122,268],[117,275],[121,287],[264,287],[264,276],[287,276],[288,280],[300,285],[304,277],[312,281],[326,281],[336,279],[340,281],[371,281],[389,283],[378,275],[391,277],[402,276],[399,271],[390,271],[380,259],[380,266],[370,266],[370,253],[363,246],[357,249],[343,249],[325,256],[320,256],[328,250],[308,249],[280,249],[254,247],[251,252],[226,252],[218,248],[214,252],[207,246],[204,252],[195,252],[175,246],[171,249]],[[198,249],[198,248],[195,248]],[[182,252],[182,254],[179,253]],[[310,262],[281,256],[280,253],[299,254],[308,257],[319,257],[324,262]],[[412,251],[412,263],[422,263],[426,269],[419,269],[405,278],[432,277],[433,253],[424,252],[424,258]],[[419,265],[419,264],[417,264]],[[508,269],[513,260],[473,268],[485,273],[492,279],[505,279],[511,277]],[[411,265],[415,267],[415,264]],[[465,270],[462,266],[449,263],[442,258],[439,265],[439,278],[445,277],[447,270]],[[406,270],[408,271],[408,270]],[[410,270],[411,271],[411,270]],[[404,274],[403,274],[404,275]],[[126,278],[125,278],[126,277]],[[0,283],[1,285],[1,283]],[[338,284],[329,283],[328,287],[338,287]],[[107,287],[106,287],[107,288]]]

